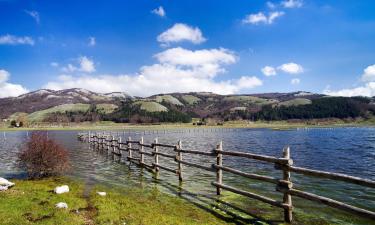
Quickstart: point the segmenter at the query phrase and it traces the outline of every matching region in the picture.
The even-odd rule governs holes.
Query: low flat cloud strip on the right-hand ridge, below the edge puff
[[[346,96],[346,97],[352,97],[352,96],[375,96],[375,82],[369,82],[366,83],[364,86],[356,87],[356,88],[348,88],[348,89],[342,89],[339,91],[332,91],[328,88],[323,91],[326,95],[332,95],[332,96]]]

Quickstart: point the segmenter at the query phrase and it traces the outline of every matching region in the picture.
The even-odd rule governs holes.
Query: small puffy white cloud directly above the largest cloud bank
[[[201,30],[198,27],[190,27],[183,23],[176,23],[173,27],[164,31],[157,37],[158,42],[164,45],[181,41],[190,41],[199,44],[206,41]]]

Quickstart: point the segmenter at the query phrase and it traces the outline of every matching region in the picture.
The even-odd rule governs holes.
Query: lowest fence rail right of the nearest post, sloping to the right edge
[[[288,193],[294,196],[298,196],[300,198],[322,203],[322,204],[331,206],[333,208],[341,209],[341,210],[356,214],[358,216],[375,219],[375,212],[372,212],[366,209],[361,209],[352,205],[348,205],[348,204],[345,204],[345,203],[342,203],[342,202],[339,202],[330,198],[322,197],[316,194],[312,194],[309,192],[304,192],[304,191],[300,191],[296,189],[291,189],[288,191]]]

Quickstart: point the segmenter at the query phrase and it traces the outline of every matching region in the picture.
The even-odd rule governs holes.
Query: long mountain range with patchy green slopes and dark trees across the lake
[[[310,92],[219,95],[211,92],[133,97],[123,92],[100,94],[85,89],[41,89],[0,99],[0,117],[35,122],[188,122],[216,120],[285,120],[371,116],[374,98],[329,97]],[[20,119],[22,118],[22,119]]]

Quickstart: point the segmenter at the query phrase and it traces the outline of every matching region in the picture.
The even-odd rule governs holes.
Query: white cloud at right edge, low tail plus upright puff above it
[[[362,86],[355,87],[355,88],[347,88],[338,91],[330,90],[328,86],[323,93],[327,95],[333,96],[367,96],[372,97],[375,96],[375,64],[366,67],[363,70],[363,74],[361,76],[361,81],[367,82],[364,83]]]

